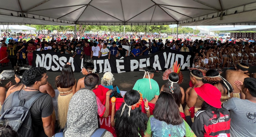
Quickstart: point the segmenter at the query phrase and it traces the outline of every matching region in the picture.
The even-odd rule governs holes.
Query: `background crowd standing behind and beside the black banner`
[[[80,36],[79,39],[72,37],[73,34],[60,36],[44,36],[41,34],[28,41],[20,39],[20,36],[16,36],[14,39],[3,37],[0,43],[0,64],[4,66],[10,61],[12,67],[14,67],[18,61],[18,64],[27,64],[28,62],[29,65],[32,65],[33,51],[43,50],[72,54],[73,57],[79,56],[80,58],[83,58],[84,55],[98,58],[108,56],[110,58],[111,54],[114,56],[136,57],[171,49],[181,52],[193,52],[193,67],[207,69],[229,68],[241,62],[248,63],[249,66],[256,65],[256,46],[251,38],[234,39],[227,37],[223,40],[222,38],[206,37],[193,40],[192,37],[187,37],[166,39],[163,42],[162,39],[147,39],[148,36],[142,35],[137,37],[135,35],[127,35],[126,37],[122,35],[87,34]],[[113,39],[113,37],[117,39]],[[125,38],[122,39],[122,37]],[[222,41],[225,42],[222,43]]]

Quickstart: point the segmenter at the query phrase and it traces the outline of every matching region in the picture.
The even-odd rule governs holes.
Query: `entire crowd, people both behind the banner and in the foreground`
[[[8,43],[6,40],[1,40],[0,52],[5,54],[0,55],[0,60],[5,62],[0,63],[11,62],[16,84],[9,82],[0,87],[0,123],[3,123],[0,132],[3,134],[56,137],[91,136],[96,133],[104,137],[234,137],[256,134],[256,79],[255,75],[250,78],[248,73],[249,66],[254,65],[254,52],[251,52],[254,51],[253,40],[231,38],[221,43],[222,39],[211,37],[205,40],[167,39],[163,43],[162,39],[151,42],[151,39],[120,38],[114,41],[92,35],[81,39],[67,37],[55,40],[52,37],[49,41],[36,38],[28,42],[9,40]],[[130,46],[130,55],[123,46]],[[157,71],[147,66],[143,69],[144,77],[138,79],[123,97],[114,84],[114,75],[106,72],[100,79],[91,59],[93,56],[110,58],[111,54],[136,57],[166,49],[195,54],[195,67],[190,68],[189,77],[183,76],[176,62],[163,73],[166,83],[161,86],[153,79]],[[85,77],[76,79],[71,64],[67,63],[60,76],[55,78],[55,83],[49,83],[45,68],[31,67],[33,51],[43,50],[83,58],[81,72]],[[246,64],[247,59],[249,65]],[[22,65],[17,66],[17,61]],[[220,66],[234,66],[235,70],[227,70],[223,75],[217,69]],[[184,77],[190,79],[188,89],[180,86]],[[58,94],[52,84],[57,87]],[[55,96],[57,106],[52,101]],[[123,102],[110,101],[112,97],[123,98]],[[25,109],[18,109],[17,106],[28,106],[31,117],[23,118],[22,122],[27,124],[30,121],[30,126],[14,126],[15,122],[7,122],[23,116],[16,113]],[[99,117],[110,117],[113,133],[100,127]],[[60,130],[55,132],[55,127]]]

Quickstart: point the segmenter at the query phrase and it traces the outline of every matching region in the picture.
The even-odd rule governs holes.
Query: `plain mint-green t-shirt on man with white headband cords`
[[[153,79],[150,79],[151,82],[151,88],[149,85],[149,79],[144,78],[144,79],[139,79],[135,83],[134,87],[132,88],[133,90],[139,90],[139,92],[142,94],[143,98],[147,98],[148,101],[152,100],[155,95],[159,95],[159,86],[157,82]]]

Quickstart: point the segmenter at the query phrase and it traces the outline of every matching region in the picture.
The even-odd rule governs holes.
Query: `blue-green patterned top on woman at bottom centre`
[[[155,119],[153,115],[149,117],[147,123],[147,129],[144,135],[149,137],[165,137],[165,136],[175,136],[175,137],[196,137],[194,132],[191,130],[187,122],[183,119],[180,125],[167,124],[164,121],[159,121]]]

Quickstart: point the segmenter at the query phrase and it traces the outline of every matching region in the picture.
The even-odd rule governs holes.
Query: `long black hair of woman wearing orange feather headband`
[[[125,93],[124,101],[127,105],[131,106],[136,104],[140,99],[140,94],[136,90],[130,90]],[[147,129],[146,122],[148,117],[141,110],[141,106],[131,109],[129,117],[129,108],[125,106],[124,112],[121,115],[124,103],[120,106],[120,109],[116,112],[115,119],[115,132],[117,137],[137,137],[142,135]],[[120,116],[121,115],[121,116]]]

